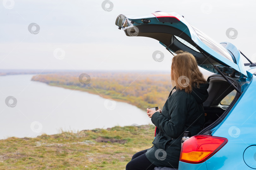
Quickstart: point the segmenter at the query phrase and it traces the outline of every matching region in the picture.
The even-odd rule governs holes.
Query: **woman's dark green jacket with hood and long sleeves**
[[[191,93],[176,90],[165,102],[162,114],[155,112],[151,121],[160,129],[152,142],[154,146],[146,152],[146,157],[158,167],[178,168],[181,138],[185,131],[196,135],[204,124],[203,102],[208,97],[209,83],[200,84]]]

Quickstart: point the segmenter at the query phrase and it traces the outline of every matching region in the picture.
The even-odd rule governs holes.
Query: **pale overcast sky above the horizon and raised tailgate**
[[[235,44],[256,62],[256,1],[111,0],[110,11],[105,11],[102,3],[103,0],[3,0],[0,69],[170,70],[172,55],[159,41],[128,37],[115,25],[119,14],[155,11],[183,15],[212,39]],[[105,7],[109,8],[109,4]],[[226,35],[229,28],[237,30],[235,39]],[[152,58],[156,50],[164,53],[162,62]]]

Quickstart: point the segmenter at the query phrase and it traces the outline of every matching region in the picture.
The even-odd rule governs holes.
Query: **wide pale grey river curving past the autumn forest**
[[[152,124],[146,110],[99,95],[31,81],[32,76],[0,76],[0,139]]]

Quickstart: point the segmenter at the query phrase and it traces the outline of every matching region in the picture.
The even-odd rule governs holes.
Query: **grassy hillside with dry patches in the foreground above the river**
[[[126,126],[0,140],[0,169],[120,170],[153,144],[155,126]]]

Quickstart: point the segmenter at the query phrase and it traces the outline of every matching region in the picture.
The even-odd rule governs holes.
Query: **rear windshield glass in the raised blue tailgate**
[[[195,30],[198,37],[204,42],[205,45],[207,45],[208,47],[213,49],[215,52],[219,53],[223,57],[225,57],[233,62],[233,59],[230,56],[229,52],[220,43],[212,40],[209,36],[205,35],[203,32],[201,32],[197,28],[195,28],[193,26],[192,26],[192,28]]]

